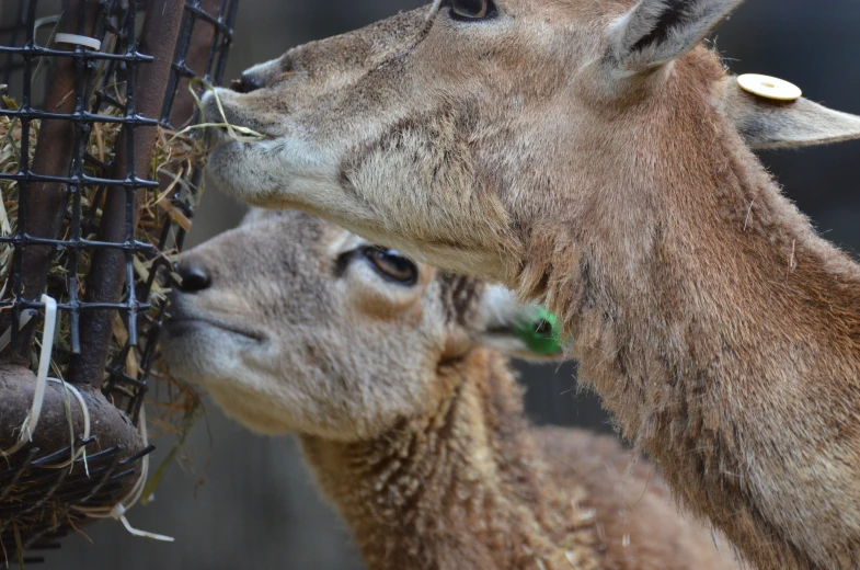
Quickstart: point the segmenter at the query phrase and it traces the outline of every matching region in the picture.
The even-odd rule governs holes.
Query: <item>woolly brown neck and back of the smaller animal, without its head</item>
[[[443,366],[449,399],[381,437],[301,437],[371,569],[734,568],[609,437],[532,430],[497,353]]]

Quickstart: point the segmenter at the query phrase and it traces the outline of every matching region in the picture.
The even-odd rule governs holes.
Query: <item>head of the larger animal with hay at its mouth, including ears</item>
[[[860,136],[856,117],[756,100],[726,79],[699,44],[737,4],[437,1],[290,49],[209,95],[208,115],[220,100],[227,122],[268,137],[218,137],[209,172],[252,204],[515,285],[536,230],[600,232],[611,205],[630,203],[642,224],[666,207],[645,189],[691,174],[718,138]]]

